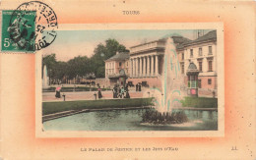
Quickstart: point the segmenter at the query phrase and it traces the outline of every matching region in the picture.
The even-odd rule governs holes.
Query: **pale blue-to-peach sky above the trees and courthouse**
[[[43,48],[43,54],[56,54],[57,61],[68,61],[77,56],[91,57],[96,45],[105,44],[108,38],[116,39],[127,49],[145,41],[158,40],[171,34],[179,34],[193,40],[192,29],[104,29],[104,30],[58,30],[56,39]],[[205,33],[209,30],[205,30]]]

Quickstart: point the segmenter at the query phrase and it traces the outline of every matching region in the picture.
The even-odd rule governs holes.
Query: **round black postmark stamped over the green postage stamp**
[[[55,40],[56,28],[56,14],[48,5],[39,1],[23,3],[13,11],[8,28],[3,29],[8,31],[9,44],[15,48],[6,47],[8,42],[5,44],[5,37],[2,36],[2,50],[34,51],[45,48]]]

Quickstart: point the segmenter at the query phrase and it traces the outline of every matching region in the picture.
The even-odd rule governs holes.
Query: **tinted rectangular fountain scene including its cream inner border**
[[[224,136],[223,24],[59,28],[36,53],[38,136]]]

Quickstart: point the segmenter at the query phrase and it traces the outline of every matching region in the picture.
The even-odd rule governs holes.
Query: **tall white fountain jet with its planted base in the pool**
[[[161,88],[155,87],[145,91],[145,96],[148,95],[154,97],[153,103],[157,112],[147,112],[146,115],[143,116],[143,122],[148,121],[151,123],[149,117],[151,119],[156,119],[154,121],[155,124],[156,121],[164,121],[164,124],[186,122],[187,118],[185,117],[185,114],[182,114],[182,112],[172,112],[172,108],[181,107],[180,100],[184,96],[184,93],[180,90],[183,85],[183,78],[180,72],[175,44],[171,37],[168,37],[165,42],[162,72]]]

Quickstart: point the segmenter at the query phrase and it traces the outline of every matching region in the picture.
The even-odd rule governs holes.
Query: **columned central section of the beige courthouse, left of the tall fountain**
[[[178,45],[189,39],[182,36],[171,36]],[[130,81],[134,83],[147,81],[151,86],[161,86],[163,56],[166,38],[132,46],[130,48]]]

